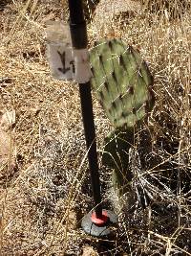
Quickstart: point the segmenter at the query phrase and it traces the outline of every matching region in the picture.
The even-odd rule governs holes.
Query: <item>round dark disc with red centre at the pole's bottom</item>
[[[107,237],[115,232],[117,222],[117,215],[112,211],[103,210],[101,218],[96,218],[95,211],[92,211],[84,216],[81,226],[91,236]]]

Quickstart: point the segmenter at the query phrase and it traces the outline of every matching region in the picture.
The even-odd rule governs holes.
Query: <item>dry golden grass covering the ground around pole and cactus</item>
[[[101,174],[105,203],[120,221],[117,238],[106,242],[88,237],[79,225],[93,201],[78,89],[54,81],[45,56],[45,22],[68,17],[66,1],[65,9],[60,2],[12,1],[0,12],[0,110],[16,111],[17,151],[17,168],[0,182],[0,254],[81,255],[90,244],[100,255],[191,255],[189,7],[170,1],[168,9],[156,0],[154,10],[145,1],[131,19],[121,15],[110,26],[88,25],[91,45],[103,36],[122,37],[139,49],[155,77],[156,105],[132,149],[133,211],[128,195],[118,200],[111,193],[110,171]],[[101,151],[111,128],[96,100],[94,106]],[[139,188],[151,200],[145,210]]]

